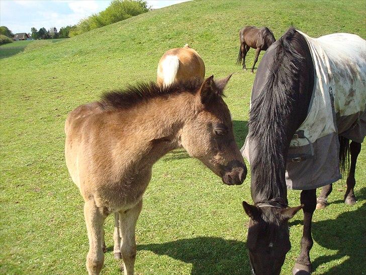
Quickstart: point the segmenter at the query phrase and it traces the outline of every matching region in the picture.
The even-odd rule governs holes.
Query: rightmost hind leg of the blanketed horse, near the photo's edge
[[[356,203],[356,197],[353,192],[356,180],[354,179],[354,172],[356,170],[356,161],[359,152],[361,151],[361,144],[357,142],[351,142],[349,145],[349,153],[351,155],[351,165],[349,166],[349,173],[347,177],[347,190],[344,195],[344,202],[349,205]]]

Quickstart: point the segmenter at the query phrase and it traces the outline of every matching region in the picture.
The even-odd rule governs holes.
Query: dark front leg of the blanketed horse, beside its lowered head
[[[311,237],[311,220],[313,218],[316,205],[316,189],[301,191],[300,201],[304,204],[304,229],[303,237],[301,238],[300,255],[296,259],[292,273],[306,275],[311,273],[309,252],[313,246],[313,238]]]

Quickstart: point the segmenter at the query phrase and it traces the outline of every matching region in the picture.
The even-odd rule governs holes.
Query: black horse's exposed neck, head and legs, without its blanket
[[[290,28],[265,53],[254,81],[246,140],[250,142],[254,205],[243,201],[243,208],[250,217],[247,248],[256,275],[280,274],[291,248],[288,220],[300,209],[304,212],[304,229],[293,274],[311,273],[309,252],[313,246],[311,223],[317,202],[316,187],[302,190],[301,205],[288,208],[285,172],[290,142],[307,117],[317,76],[314,68],[307,41]],[[361,144],[352,141],[349,145],[345,137],[339,139],[341,166],[344,167],[347,152],[351,155],[345,198],[354,198],[354,169]],[[337,171],[339,174],[338,168]]]

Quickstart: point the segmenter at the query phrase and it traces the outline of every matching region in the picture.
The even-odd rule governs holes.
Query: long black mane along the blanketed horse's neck
[[[250,134],[258,142],[258,157],[252,164],[252,170],[256,171],[254,193],[262,194],[262,200],[286,194],[286,156],[283,154],[287,140],[286,121],[293,109],[293,95],[299,90],[300,67],[304,60],[292,43],[296,33],[290,28],[279,39],[265,84],[250,109]]]

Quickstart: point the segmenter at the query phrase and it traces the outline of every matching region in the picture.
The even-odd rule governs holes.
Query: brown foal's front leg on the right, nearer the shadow
[[[142,209],[142,200],[133,208],[120,212],[120,230],[122,237],[121,254],[125,275],[133,275],[136,259],[136,222]]]

